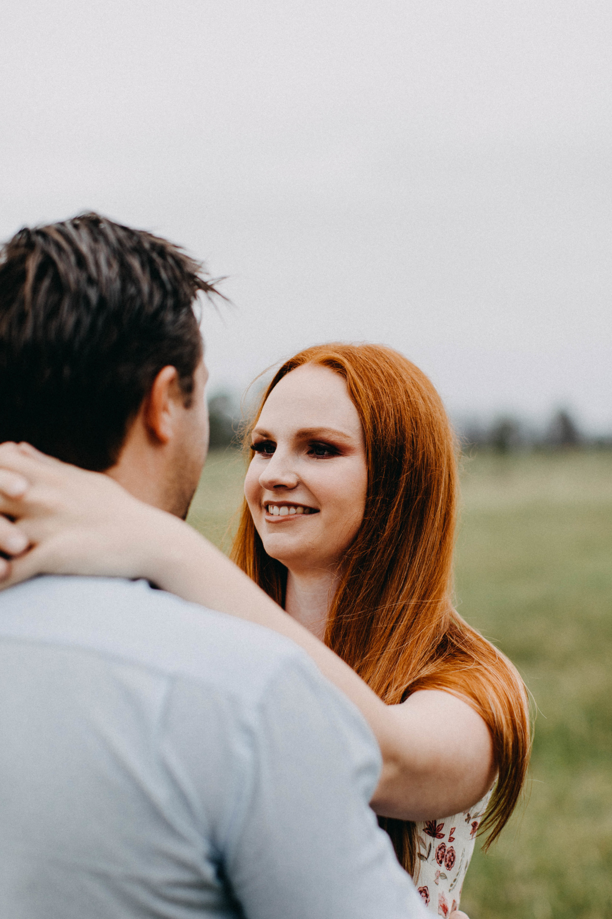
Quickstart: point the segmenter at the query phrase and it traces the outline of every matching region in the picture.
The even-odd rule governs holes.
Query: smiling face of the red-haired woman
[[[244,494],[263,548],[294,572],[335,569],[357,534],[367,467],[347,385],[305,364],[278,383],[253,430]]]

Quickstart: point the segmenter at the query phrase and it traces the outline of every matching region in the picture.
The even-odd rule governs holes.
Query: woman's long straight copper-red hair
[[[362,524],[343,559],[325,642],[388,705],[417,689],[442,689],[484,719],[497,768],[481,823],[488,848],[527,774],[529,704],[514,665],[453,608],[458,448],[444,406],[425,374],[392,348],[314,346],[275,374],[245,432],[245,449],[273,388],[304,364],[331,369],[346,381],[362,422],[368,471]],[[286,568],[263,549],[246,501],[231,555],[284,605]],[[416,824],[386,817],[379,823],[414,876]]]

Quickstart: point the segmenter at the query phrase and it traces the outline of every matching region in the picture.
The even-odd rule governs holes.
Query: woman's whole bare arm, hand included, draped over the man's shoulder
[[[17,532],[31,547],[6,566],[4,586],[39,573],[144,577],[185,600],[295,641],[362,711],[376,736],[384,766],[372,804],[381,815],[418,821],[457,813],[490,788],[490,735],[461,699],[426,690],[402,705],[384,705],[348,664],[210,542],[108,476],[16,445],[0,447],[0,468],[0,512],[18,522],[18,531],[6,521],[0,527],[0,548],[14,554],[8,539]]]

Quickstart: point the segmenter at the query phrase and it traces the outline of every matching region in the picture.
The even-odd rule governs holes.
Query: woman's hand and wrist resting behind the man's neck
[[[45,573],[152,579],[150,542],[172,542],[179,524],[107,475],[12,443],[0,446],[0,514],[0,550],[12,557],[0,559],[0,587]]]

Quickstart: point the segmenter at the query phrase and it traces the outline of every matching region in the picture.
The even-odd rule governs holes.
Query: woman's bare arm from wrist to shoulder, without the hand
[[[372,802],[377,813],[425,820],[467,810],[484,796],[495,778],[491,736],[467,703],[450,693],[422,690],[402,705],[384,705],[348,664],[222,552],[176,522],[181,532],[172,550],[165,540],[152,540],[144,576],[185,600],[257,622],[304,648],[321,673],[361,709],[376,735],[384,762]]]

